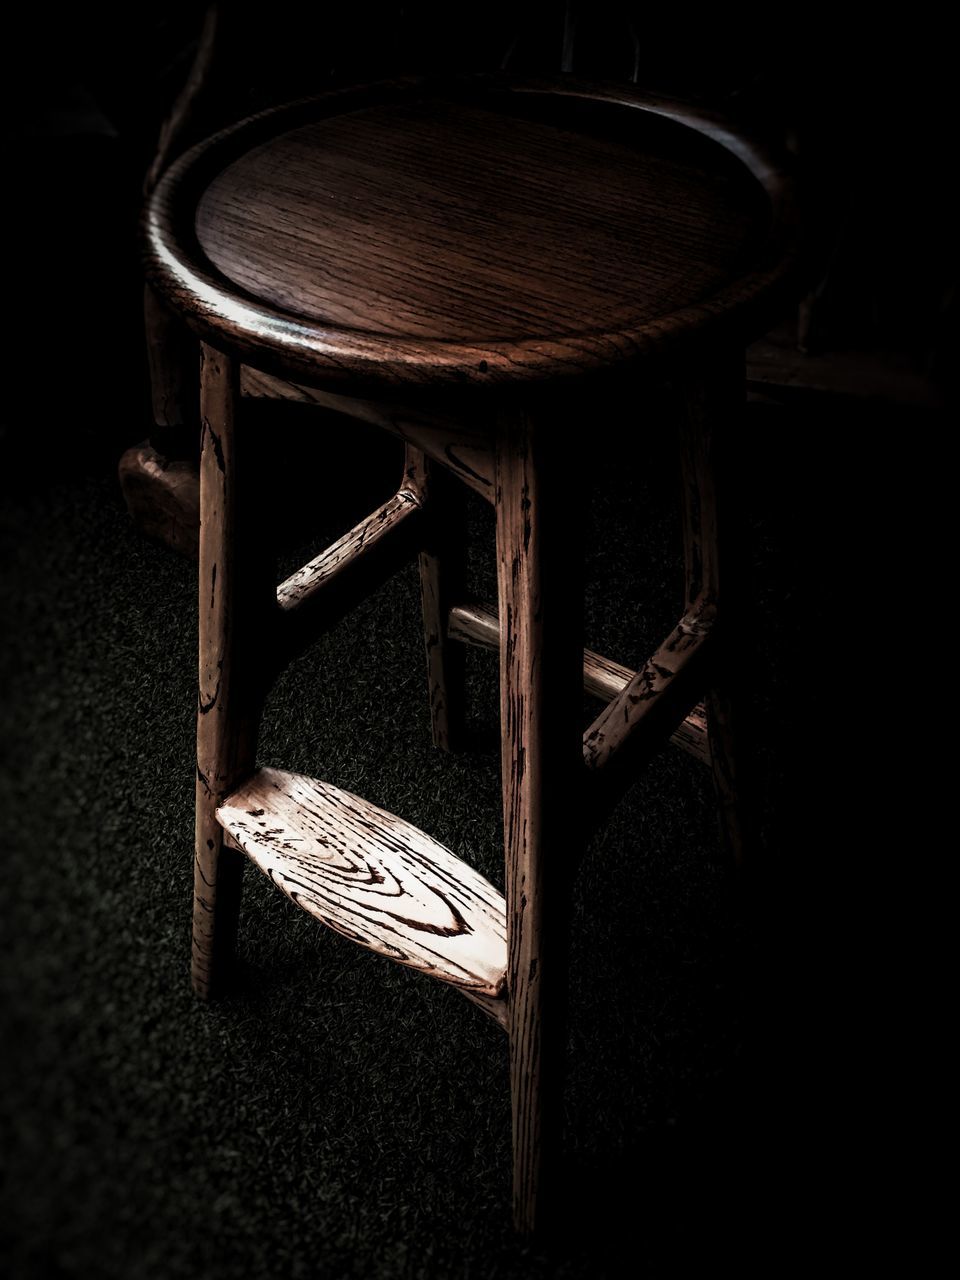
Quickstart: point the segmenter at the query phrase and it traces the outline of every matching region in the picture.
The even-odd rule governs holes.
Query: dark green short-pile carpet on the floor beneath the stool
[[[325,429],[287,412],[283,439],[308,460]],[[745,417],[767,480],[783,412]],[[250,434],[280,438],[252,410]],[[627,663],[666,631],[680,573],[669,458],[631,439],[589,521],[589,639]],[[340,481],[305,463],[279,503],[306,512],[284,566],[396,477],[365,429],[338,448],[321,457]],[[742,1204],[774,1231],[791,1128],[776,947],[730,882],[705,771],[662,753],[577,879],[570,1208],[521,1247],[506,1042],[456,992],[353,948],[247,868],[238,989],[191,995],[195,570],[132,527],[109,451],[81,436],[60,461],[20,465],[4,502],[5,1274],[599,1276],[622,1274],[625,1248],[666,1274],[760,1261]],[[794,512],[746,480],[776,861]],[[490,515],[477,500],[470,518],[489,599]],[[403,814],[502,886],[495,673],[468,650],[474,750],[434,751],[411,566],[284,675],[261,762]]]

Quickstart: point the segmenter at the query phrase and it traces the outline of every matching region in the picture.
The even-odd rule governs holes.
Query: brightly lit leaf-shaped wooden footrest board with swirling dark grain
[[[503,895],[408,822],[280,769],[259,769],[216,815],[278,888],[332,929],[465,995],[503,996]]]

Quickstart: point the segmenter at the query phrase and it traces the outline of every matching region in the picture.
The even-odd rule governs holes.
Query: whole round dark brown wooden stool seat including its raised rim
[[[188,152],[147,270],[215,346],[292,376],[530,381],[755,312],[792,259],[788,197],[745,138],[631,90],[398,82]]]

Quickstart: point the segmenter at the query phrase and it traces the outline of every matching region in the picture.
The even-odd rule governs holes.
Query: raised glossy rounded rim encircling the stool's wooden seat
[[[707,297],[644,323],[547,338],[470,342],[326,324],[243,289],[205,253],[196,234],[198,201],[212,178],[234,160],[300,123],[430,92],[585,99],[648,113],[694,131],[728,152],[765,195],[769,221],[750,269]],[[781,157],[699,108],[654,97],[632,86],[595,84],[572,77],[404,77],[271,108],[198,143],[175,161],[146,204],[142,236],[147,279],[205,342],[268,371],[365,392],[530,387],[645,364],[721,328],[746,340],[769,324],[799,265],[794,183]]]

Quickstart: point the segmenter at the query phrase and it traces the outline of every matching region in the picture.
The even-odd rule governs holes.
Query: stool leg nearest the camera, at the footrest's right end
[[[557,1189],[568,873],[582,840],[582,582],[571,536],[580,488],[566,483],[562,453],[554,424],[541,430],[517,413],[498,426],[507,1025],[524,1233],[544,1225]]]

